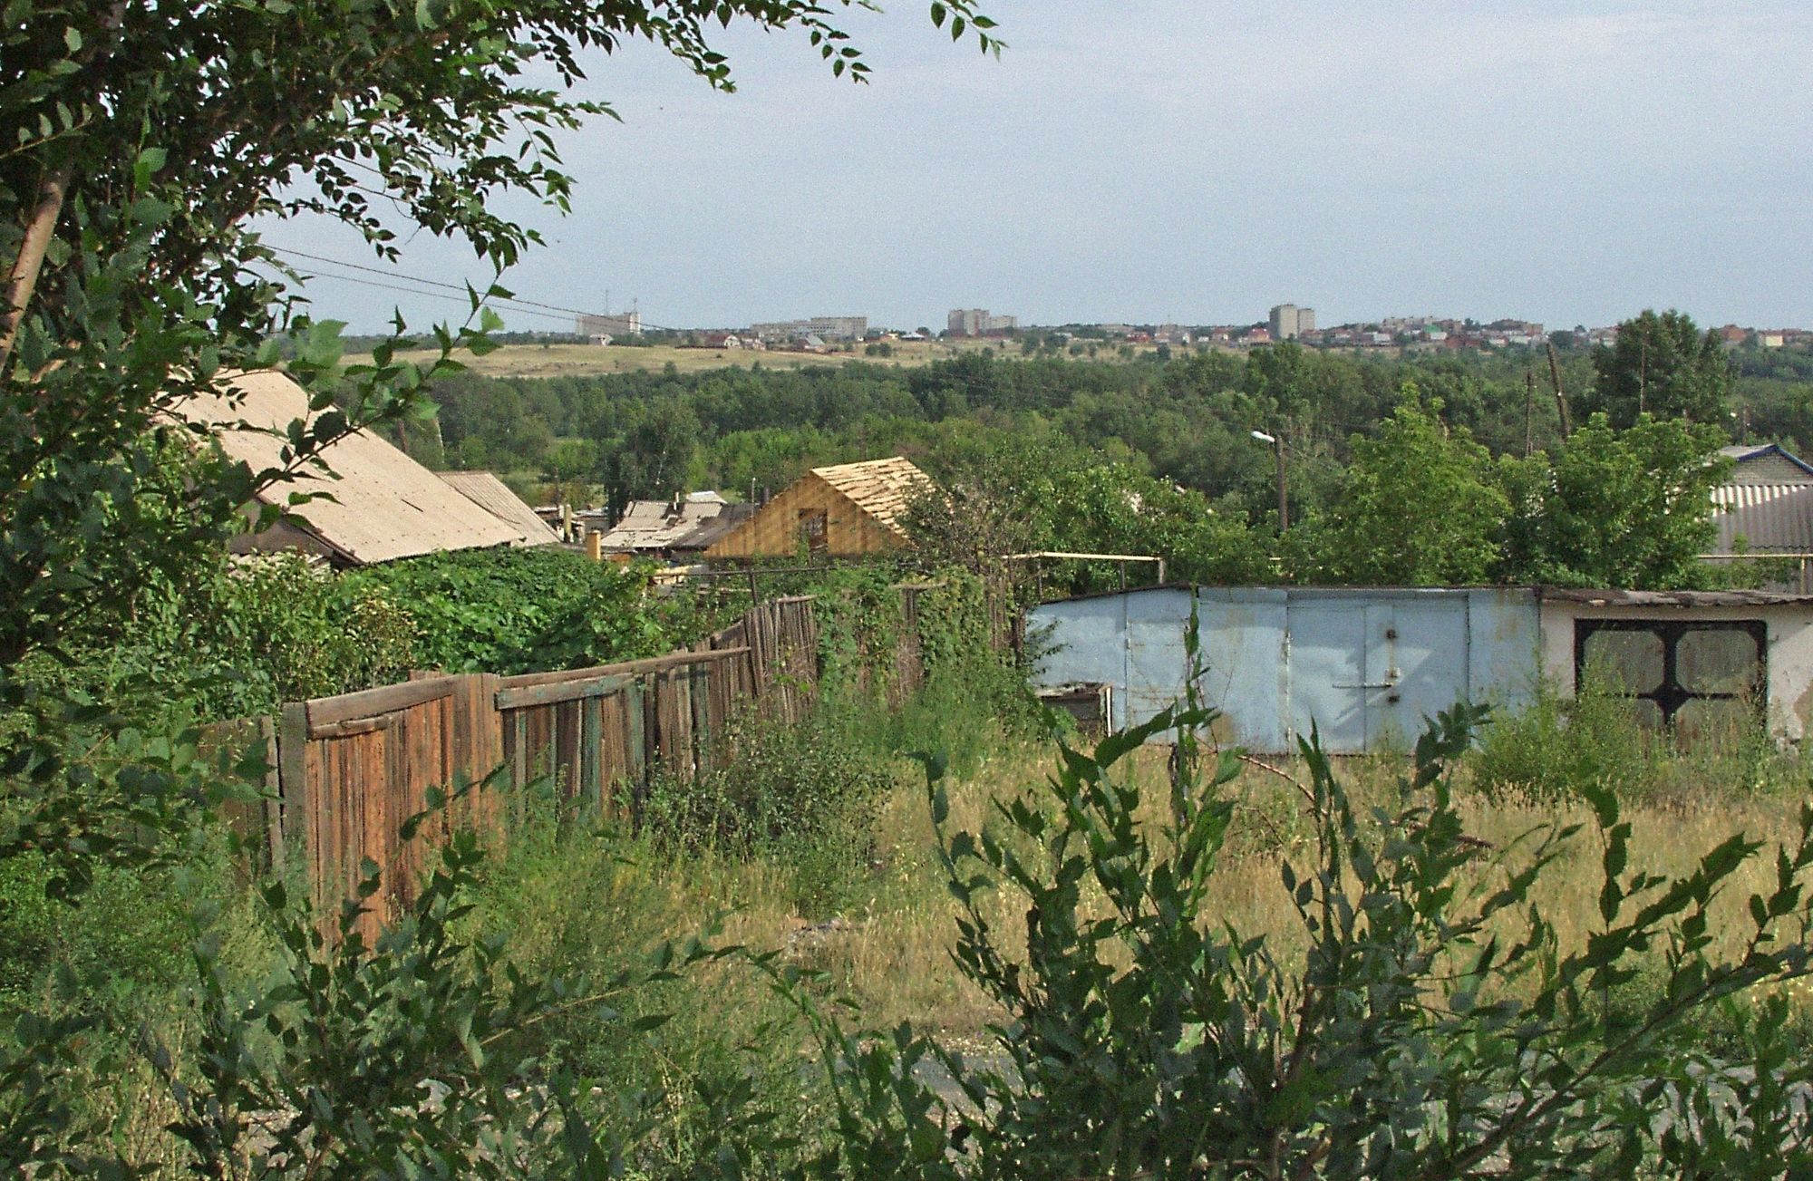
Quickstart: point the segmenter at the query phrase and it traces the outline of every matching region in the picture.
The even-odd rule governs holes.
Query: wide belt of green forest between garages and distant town
[[[812,466],[899,453],[1001,545],[1157,552],[1202,581],[1766,578],[1693,562],[1722,476],[1710,458],[1730,442],[1804,453],[1813,355],[1726,350],[1679,312],[1632,317],[1612,348],[1556,335],[1568,348],[1131,360],[1030,335],[923,368],[450,375],[430,389],[439,417],[399,437],[430,466],[611,507],[761,498]]]

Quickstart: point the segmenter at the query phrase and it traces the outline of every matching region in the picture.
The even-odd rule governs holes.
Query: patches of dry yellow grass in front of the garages
[[[977,775],[952,784],[952,826],[979,828],[988,819],[990,801],[1037,783],[1048,764],[1041,748],[1012,750]],[[1280,770],[1300,772],[1289,763]],[[1164,799],[1162,750],[1140,752],[1133,759],[1133,773],[1151,786],[1155,804]],[[1360,811],[1372,804],[1387,811],[1398,808],[1396,763],[1354,759],[1345,761],[1340,773]],[[1276,775],[1249,770],[1231,790],[1240,799],[1240,813],[1217,869],[1207,913],[1215,922],[1227,922],[1244,933],[1265,933],[1275,955],[1287,964],[1302,951],[1302,933],[1280,882],[1280,862],[1291,859],[1298,868],[1305,866],[1313,857],[1311,830],[1294,788]],[[1590,811],[1585,806],[1494,804],[1469,792],[1465,783],[1459,801],[1469,835],[1507,853],[1512,862],[1523,855],[1532,831],[1552,824],[1583,826],[1556,868],[1541,879],[1536,898],[1561,940],[1581,946],[1599,924],[1601,848]],[[1634,826],[1634,869],[1684,875],[1733,831],[1771,844],[1793,837],[1797,801],[1717,790],[1677,793],[1634,804],[1626,819]],[[912,1020],[946,1036],[974,1034],[997,1014],[950,960],[955,911],[932,851],[923,786],[903,777],[901,788],[876,817],[876,833],[881,855],[863,902],[848,907],[830,929],[809,929],[787,904],[785,875],[761,864],[693,864],[684,871],[691,882],[676,884],[676,900],[691,897],[694,904],[680,909],[693,915],[703,913],[698,902],[705,898],[736,904],[740,909],[729,931],[734,938],[758,947],[792,946],[794,958],[825,971],[839,993],[859,1002],[867,1023],[885,1027]],[[1746,864],[1719,898],[1717,915],[1730,917],[1730,922],[1715,922],[1717,951],[1739,953],[1748,927],[1742,915],[1746,898],[1773,884],[1769,859],[1766,850]],[[1492,888],[1503,873],[1492,859],[1483,859],[1474,884]],[[994,895],[988,902],[988,917],[1006,947],[1015,947],[1024,936],[1019,906],[1010,895]]]

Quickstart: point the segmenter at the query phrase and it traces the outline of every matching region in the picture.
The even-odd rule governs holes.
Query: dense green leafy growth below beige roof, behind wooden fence
[[[404,558],[346,576],[354,592],[401,603],[415,658],[446,672],[548,672],[660,656],[703,619],[662,598],[647,567],[600,563],[553,545]]]

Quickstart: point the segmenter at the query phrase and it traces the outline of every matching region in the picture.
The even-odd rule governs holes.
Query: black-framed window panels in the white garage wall
[[[1760,710],[1768,694],[1762,619],[1575,619],[1574,676],[1610,674],[1641,705],[1643,719],[1706,734]]]

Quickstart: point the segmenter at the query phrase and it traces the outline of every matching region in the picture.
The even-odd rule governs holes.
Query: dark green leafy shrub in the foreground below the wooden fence
[[[656,1127],[658,1094],[613,1094],[598,1119],[591,1080],[569,1071],[544,1027],[575,1011],[615,1020],[613,1003],[674,973],[723,958],[700,940],[658,944],[607,978],[524,973],[497,935],[462,936],[482,853],[455,833],[410,913],[366,946],[363,904],[377,891],[370,862],[335,938],[292,909],[281,886],[263,895],[276,918],[281,969],[252,996],[228,987],[207,936],[199,1071],[169,1047],[150,1056],[179,1109],[170,1130],[190,1167],[223,1176],[462,1177],[613,1176]],[[647,1034],[664,1014],[633,1022]],[[767,1147],[731,1096],[713,1132],[729,1159]],[[703,1152],[711,1159],[711,1145]]]

